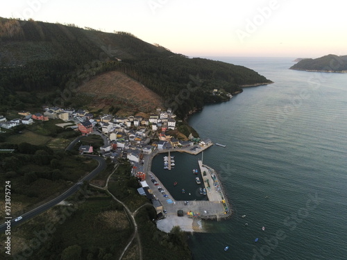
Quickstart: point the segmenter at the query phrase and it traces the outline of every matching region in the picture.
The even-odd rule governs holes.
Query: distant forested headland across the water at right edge
[[[303,59],[290,69],[302,71],[347,72],[347,55],[325,55],[316,59]]]

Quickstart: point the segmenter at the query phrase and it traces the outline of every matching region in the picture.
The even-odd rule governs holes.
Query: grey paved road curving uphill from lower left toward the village
[[[96,168],[94,168],[94,170],[91,171],[88,175],[86,175],[81,180],[79,180],[78,183],[74,184],[74,186],[72,186],[70,189],[68,189],[64,193],[62,193],[60,196],[54,198],[53,200],[51,200],[49,202],[46,202],[44,205],[41,205],[41,206],[31,210],[31,211],[28,211],[28,212],[22,214],[22,217],[23,217],[22,220],[15,222],[15,218],[12,218],[11,227],[15,227],[15,226],[19,225],[20,223],[22,223],[23,221],[29,220],[29,219],[41,214],[42,212],[50,209],[51,207],[56,206],[59,202],[61,202],[62,200],[65,200],[66,198],[68,198],[69,196],[74,194],[76,191],[81,189],[81,186],[83,185],[83,181],[92,180],[92,178],[96,174],[100,173],[101,171],[103,171],[106,168],[105,159],[103,159],[103,157],[93,156],[93,155],[85,155],[85,156],[96,159],[96,161],[99,162],[99,165]],[[6,230],[6,227],[7,227],[6,224],[0,225],[0,232],[1,233],[4,232]]]

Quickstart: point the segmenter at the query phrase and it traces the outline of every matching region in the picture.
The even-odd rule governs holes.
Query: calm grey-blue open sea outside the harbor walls
[[[212,59],[275,83],[189,119],[201,137],[226,145],[203,159],[233,211],[192,236],[194,259],[347,259],[347,74],[289,70],[294,58]]]

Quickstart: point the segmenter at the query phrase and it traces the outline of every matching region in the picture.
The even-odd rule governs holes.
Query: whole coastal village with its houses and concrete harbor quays
[[[169,135],[168,132],[177,130],[179,122],[170,108],[167,110],[157,108],[155,112],[147,114],[146,117],[144,115],[113,116],[111,114],[94,116],[87,110],[61,109],[60,107],[43,107],[43,110],[43,112],[35,114],[27,111],[18,112],[21,118],[10,121],[0,115],[0,128],[8,130],[20,124],[31,125],[35,121],[61,119],[66,123],[59,121],[56,125],[79,131],[82,136],[100,135],[103,138],[103,146],[96,148],[84,144],[78,146],[78,152],[99,155],[105,159],[110,158],[109,161],[115,164],[119,159],[128,159],[132,165],[129,174],[137,177],[142,186],[138,189],[139,194],[146,196],[153,203],[158,220],[164,220],[162,223],[158,223],[158,227],[165,232],[169,232],[174,225],[180,225],[183,230],[188,232],[201,232],[201,227],[198,227],[192,218],[219,219],[229,215],[229,205],[223,191],[219,188],[221,184],[217,179],[217,173],[212,168],[203,165],[202,161],[199,161],[201,174],[208,173],[203,177],[204,185],[208,189],[208,201],[190,202],[189,209],[194,209],[197,212],[196,215],[187,213],[188,216],[181,218],[183,211],[179,207],[183,205],[183,201],[176,202],[169,191],[166,191],[162,198],[163,194],[157,191],[153,182],[153,179],[156,178],[155,173],[151,172],[151,161],[155,155],[175,151],[196,155],[213,145],[208,138],[200,139],[189,135],[188,138],[178,139]],[[156,181],[160,183],[158,178]],[[215,191],[211,189],[209,183],[214,184]],[[164,186],[162,185],[162,187]],[[218,203],[216,204],[216,202]],[[176,203],[178,207],[173,207]]]

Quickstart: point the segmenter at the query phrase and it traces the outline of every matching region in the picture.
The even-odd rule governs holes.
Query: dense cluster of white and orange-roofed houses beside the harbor
[[[78,123],[78,130],[83,135],[97,130],[108,137],[109,144],[101,146],[99,151],[104,157],[111,159],[123,157],[133,164],[138,164],[142,162],[144,154],[152,153],[155,148],[170,149],[191,145],[189,141],[178,141],[165,133],[168,129],[176,128],[175,117],[176,115],[170,109],[167,111],[158,109],[149,118],[143,116],[119,117],[106,114],[97,119]],[[151,141],[153,137],[158,137],[159,141]],[[90,146],[81,146],[79,150],[81,153],[93,153]]]

